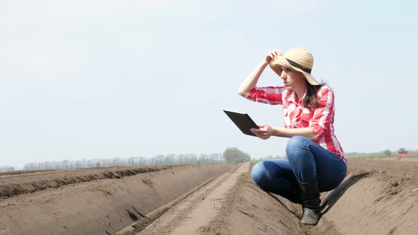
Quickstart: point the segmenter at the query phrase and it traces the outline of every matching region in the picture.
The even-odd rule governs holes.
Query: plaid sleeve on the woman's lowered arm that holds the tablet
[[[322,95],[318,96],[318,102],[320,106],[315,108],[314,115],[312,120],[310,120],[309,127],[317,134],[317,139],[322,139],[325,132],[329,130],[330,125],[332,125],[332,118],[334,115],[334,91],[327,88],[323,92],[320,91]]]

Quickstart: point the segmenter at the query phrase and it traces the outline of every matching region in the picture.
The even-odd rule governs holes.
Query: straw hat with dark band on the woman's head
[[[280,67],[287,67],[300,71],[305,75],[307,82],[312,85],[320,85],[320,83],[310,75],[313,67],[313,56],[305,48],[297,47],[288,50],[284,55],[278,55],[275,59],[271,59],[270,67],[273,71],[281,75]]]

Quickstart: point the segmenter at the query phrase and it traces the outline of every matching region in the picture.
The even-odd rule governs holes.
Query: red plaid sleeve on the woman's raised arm
[[[285,88],[283,86],[255,87],[249,91],[247,99],[270,105],[283,105],[282,96]]]

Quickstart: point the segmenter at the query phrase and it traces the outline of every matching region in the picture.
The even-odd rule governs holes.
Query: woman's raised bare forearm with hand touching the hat
[[[257,81],[259,81],[264,69],[269,65],[270,60],[278,55],[281,55],[279,50],[272,50],[267,53],[266,58],[242,81],[242,84],[238,88],[239,96],[247,97],[249,91],[256,86]]]

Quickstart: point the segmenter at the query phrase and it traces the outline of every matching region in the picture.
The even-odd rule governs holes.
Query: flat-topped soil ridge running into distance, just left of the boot
[[[213,180],[137,234],[338,234],[330,222],[326,231],[303,227],[300,205],[254,185],[253,165]]]

